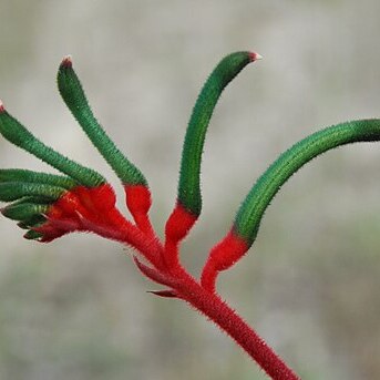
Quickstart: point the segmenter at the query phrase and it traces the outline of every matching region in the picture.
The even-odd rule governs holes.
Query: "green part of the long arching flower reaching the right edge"
[[[359,120],[332,125],[301,140],[283,153],[258,178],[237,212],[234,232],[249,246],[263,215],[284,183],[314,157],[340,145],[380,141],[380,120]]]

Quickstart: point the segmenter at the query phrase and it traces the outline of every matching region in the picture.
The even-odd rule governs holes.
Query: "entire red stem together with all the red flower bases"
[[[63,234],[60,227],[69,227],[70,220],[63,218],[69,216],[72,217],[71,220],[78,220],[80,224],[78,229],[93,232],[132,246],[148,261],[148,265],[145,265],[134,257],[138,269],[151,280],[166,287],[164,290],[152,291],[153,294],[188,302],[232,337],[271,379],[299,379],[215,291],[217,274],[229,268],[247,250],[244,240],[230,232],[212,249],[202,280],[197,281],[183,268],[178,257],[179,243],[196,222],[196,217],[179,203],[166,223],[166,240],[163,245],[151,227],[147,214],[151,198],[147,188],[143,186],[126,188],[126,203],[135,224],[127,220],[115,207],[113,191],[110,186],[97,189],[79,187],[70,193],[52,208],[54,213],[51,213],[45,226],[47,230],[51,229],[48,240],[50,240],[50,235],[52,238],[55,237],[54,227],[57,236]],[[76,208],[74,214],[73,208]],[[78,224],[73,223],[72,226],[78,226]]]

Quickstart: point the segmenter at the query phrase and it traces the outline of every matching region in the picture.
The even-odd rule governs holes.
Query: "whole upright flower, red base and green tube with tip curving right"
[[[222,92],[250,62],[260,59],[254,52],[225,57],[208,76],[189,119],[182,151],[177,201],[166,227],[166,263],[177,265],[178,243],[186,237],[202,210],[201,163],[206,132]]]

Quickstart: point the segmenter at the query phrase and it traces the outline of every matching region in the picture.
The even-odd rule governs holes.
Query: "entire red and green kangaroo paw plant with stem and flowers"
[[[212,248],[201,279],[179,261],[179,243],[202,210],[201,163],[207,127],[227,84],[260,55],[236,52],[224,58],[204,84],[184,141],[177,199],[165,227],[165,242],[157,238],[148,216],[152,204],[141,171],[121,153],[96,121],[83,88],[65,58],[59,69],[60,93],[92,144],[120,178],[129,220],[115,206],[115,194],[97,172],[61,155],[34,137],[0,102],[0,133],[12,144],[57,168],[62,175],[22,168],[0,170],[0,201],[10,204],[1,213],[28,229],[24,237],[51,242],[72,232],[92,232],[135,248],[134,261],[150,279],[163,285],[153,294],[182,299],[227,332],[273,379],[298,379],[294,371],[217,294],[216,279],[254,244],[270,201],[302,165],[333,147],[380,140],[380,120],[360,120],[321,130],[291,146],[258,178],[239,207],[227,235]],[[138,257],[137,257],[138,255]],[[145,263],[143,263],[143,259]]]

